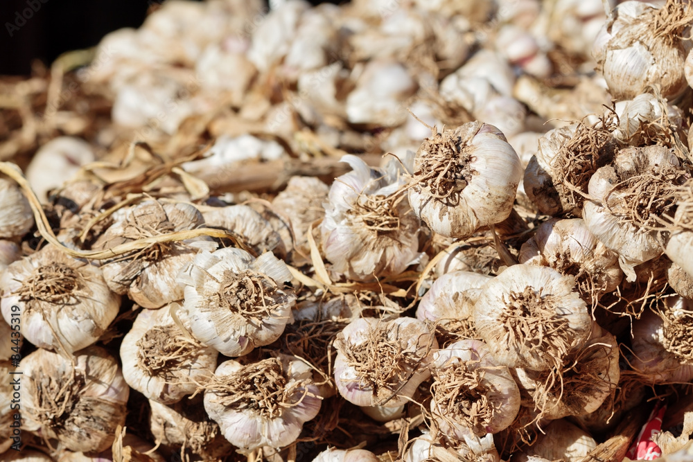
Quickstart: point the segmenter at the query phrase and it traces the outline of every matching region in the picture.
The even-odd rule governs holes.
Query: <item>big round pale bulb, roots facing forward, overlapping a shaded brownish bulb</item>
[[[477,332],[504,366],[543,371],[587,341],[592,319],[575,279],[555,269],[514,265],[482,287]]]

